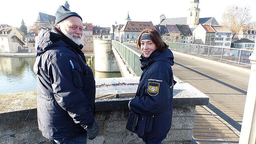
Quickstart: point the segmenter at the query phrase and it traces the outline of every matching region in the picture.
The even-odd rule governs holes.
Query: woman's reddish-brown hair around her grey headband
[[[160,33],[159,33],[157,30],[155,30],[155,29],[144,29],[144,30],[140,33],[140,35],[139,35],[139,37],[138,37],[138,39],[137,39],[137,45],[138,45],[139,48],[140,48],[140,46],[141,46],[140,37],[141,37],[141,35],[144,34],[144,33],[149,33],[149,34],[150,34],[153,43],[154,43],[154,44],[156,45],[156,47],[157,47],[156,50],[164,51],[164,50],[166,50],[166,49],[169,47],[169,46],[162,40],[162,37],[161,37]]]

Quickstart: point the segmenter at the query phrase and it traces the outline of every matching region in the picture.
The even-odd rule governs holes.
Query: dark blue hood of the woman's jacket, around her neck
[[[171,66],[174,65],[174,57],[170,49],[166,49],[163,52],[156,50],[153,53],[151,53],[151,55],[148,58],[144,57],[143,54],[140,57],[141,57],[140,61],[142,65],[141,67],[147,66],[150,63],[153,63],[158,60],[166,61],[170,63]]]

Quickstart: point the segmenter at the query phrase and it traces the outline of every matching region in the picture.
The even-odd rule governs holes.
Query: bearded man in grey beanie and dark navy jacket
[[[82,18],[64,6],[55,27],[36,37],[37,117],[39,130],[53,144],[86,144],[99,132],[94,119],[95,80],[86,64]]]

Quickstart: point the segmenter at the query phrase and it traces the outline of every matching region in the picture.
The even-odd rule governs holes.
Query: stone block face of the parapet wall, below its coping
[[[100,131],[94,140],[88,140],[88,144],[143,144],[136,134],[125,128],[129,112],[129,109],[97,111],[95,119]],[[172,126],[163,144],[190,142],[194,115],[195,106],[174,106]],[[0,124],[0,144],[20,143],[50,144],[51,141],[42,136],[35,118]]]

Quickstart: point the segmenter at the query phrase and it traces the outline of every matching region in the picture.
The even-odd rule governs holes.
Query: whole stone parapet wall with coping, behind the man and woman
[[[135,95],[139,77],[96,79],[95,119],[99,135],[88,144],[143,144],[126,130],[128,102]],[[115,98],[113,92],[123,92]],[[163,144],[189,144],[192,139],[195,106],[207,105],[209,97],[188,83],[173,90],[171,129]],[[37,124],[36,92],[0,95],[0,144],[51,144]]]

